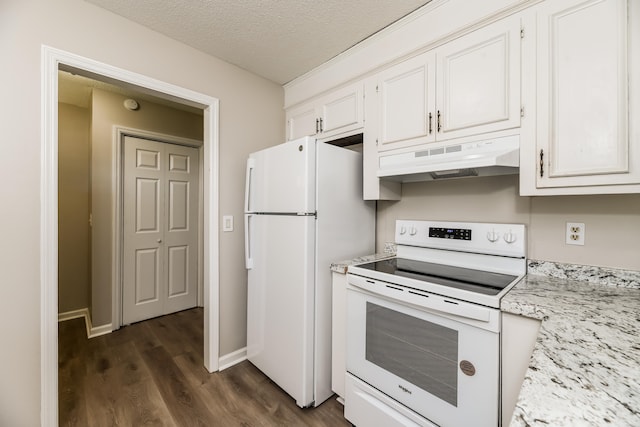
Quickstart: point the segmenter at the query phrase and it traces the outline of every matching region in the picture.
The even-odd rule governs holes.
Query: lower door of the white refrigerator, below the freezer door
[[[247,357],[300,407],[314,402],[315,217],[253,215]]]

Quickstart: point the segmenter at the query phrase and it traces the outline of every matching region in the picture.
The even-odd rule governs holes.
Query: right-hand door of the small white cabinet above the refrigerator
[[[362,128],[363,109],[362,83],[339,89],[322,98],[319,105],[321,138]]]

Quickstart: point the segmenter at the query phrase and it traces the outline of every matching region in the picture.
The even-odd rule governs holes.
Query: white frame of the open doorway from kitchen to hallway
[[[40,104],[40,419],[58,424],[58,69],[125,83],[204,109],[204,364],[219,367],[219,100],[42,45]],[[115,197],[115,194],[113,195]]]

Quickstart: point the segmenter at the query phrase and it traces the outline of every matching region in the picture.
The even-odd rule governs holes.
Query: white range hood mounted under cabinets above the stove
[[[380,156],[378,177],[400,182],[517,174],[520,136]]]

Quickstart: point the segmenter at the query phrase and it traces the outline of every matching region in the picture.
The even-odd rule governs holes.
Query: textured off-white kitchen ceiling
[[[430,0],[86,1],[284,84]]]

